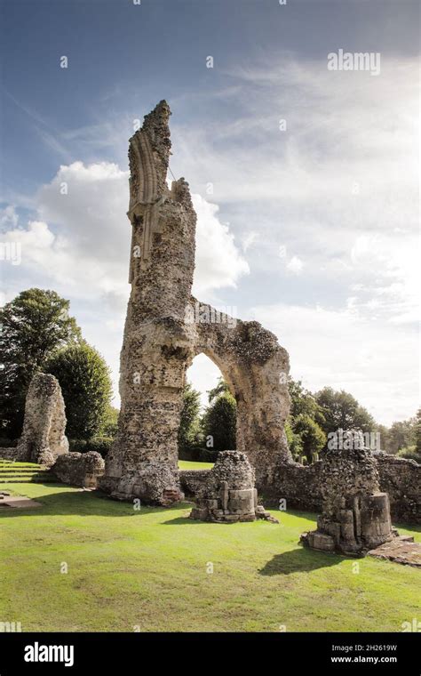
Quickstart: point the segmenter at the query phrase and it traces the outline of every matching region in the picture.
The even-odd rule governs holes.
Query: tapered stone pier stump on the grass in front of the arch
[[[196,506],[190,519],[229,523],[277,519],[258,504],[255,474],[247,455],[238,451],[222,451],[196,495]]]

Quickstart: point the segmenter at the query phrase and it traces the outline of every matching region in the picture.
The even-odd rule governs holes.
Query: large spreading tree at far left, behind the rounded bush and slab
[[[20,436],[28,386],[54,350],[81,339],[69,302],[55,291],[22,291],[0,310],[0,426]]]

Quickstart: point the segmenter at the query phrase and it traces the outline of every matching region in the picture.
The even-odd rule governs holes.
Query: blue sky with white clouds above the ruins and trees
[[[165,98],[171,170],[199,217],[196,294],[273,330],[309,388],[345,388],[379,422],[414,414],[418,12],[3,2],[0,217],[21,261],[0,261],[2,300],[28,286],[68,297],[117,381],[127,141]],[[379,75],[328,71],[338,49],[379,52]],[[209,390],[217,374],[199,357],[190,377]]]

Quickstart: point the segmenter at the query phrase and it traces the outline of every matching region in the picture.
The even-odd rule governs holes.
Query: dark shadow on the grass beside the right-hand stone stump
[[[259,575],[290,575],[290,573],[308,572],[318,568],[337,566],[342,557],[338,554],[324,554],[322,551],[308,550],[304,547],[276,554],[261,568]]]

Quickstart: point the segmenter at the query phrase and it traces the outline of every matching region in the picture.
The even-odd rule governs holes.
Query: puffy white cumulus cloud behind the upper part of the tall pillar
[[[67,194],[62,194],[63,185]],[[218,219],[218,205],[193,196],[197,212],[195,292],[235,286],[249,272],[234,236]],[[4,267],[2,301],[29,286],[54,288],[70,299],[83,335],[107,359],[117,390],[131,225],[125,212],[128,173],[101,162],[61,165],[36,196],[39,220],[20,227],[13,206],[0,213],[2,240],[21,246],[21,264]]]

